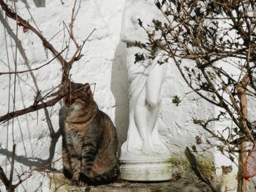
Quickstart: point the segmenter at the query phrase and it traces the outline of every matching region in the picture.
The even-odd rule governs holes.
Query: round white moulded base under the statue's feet
[[[134,181],[162,181],[172,179],[170,159],[120,159],[120,179]]]

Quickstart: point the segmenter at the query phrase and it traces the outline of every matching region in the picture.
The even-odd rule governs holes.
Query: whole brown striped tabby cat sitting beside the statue
[[[115,177],[116,129],[93,100],[90,85],[71,83],[65,103],[63,173],[72,185],[103,184]]]

